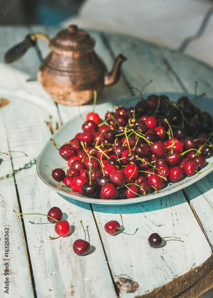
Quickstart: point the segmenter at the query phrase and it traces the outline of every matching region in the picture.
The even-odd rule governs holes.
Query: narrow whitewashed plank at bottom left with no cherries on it
[[[4,131],[4,125],[2,122],[2,115],[0,111],[0,137],[1,137],[1,152],[6,152],[9,150],[7,147],[7,140]],[[12,164],[9,156],[1,155],[3,161],[0,165],[1,179],[0,179],[0,198],[1,198],[1,208],[0,208],[0,227],[1,227],[1,288],[0,297],[34,297],[31,274],[28,263],[28,256],[26,250],[26,243],[24,239],[23,227],[20,219],[14,217],[14,212],[12,209],[19,210],[18,200],[15,189],[15,182],[12,173]],[[8,175],[8,176],[7,176]],[[6,234],[9,232],[8,234]],[[9,252],[8,257],[5,255],[5,235],[9,235]],[[18,256],[18,257],[17,257]],[[4,262],[4,259],[9,259]],[[9,275],[4,275],[6,272],[6,266],[4,263],[9,262]],[[21,273],[21,274],[20,274]],[[9,278],[9,295],[4,291],[6,285],[6,277]],[[18,295],[18,296],[17,296]]]

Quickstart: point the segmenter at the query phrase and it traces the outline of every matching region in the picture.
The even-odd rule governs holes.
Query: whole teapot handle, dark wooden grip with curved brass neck
[[[40,33],[40,32],[28,34],[26,35],[23,41],[21,41],[19,44],[16,44],[12,48],[10,48],[4,54],[4,61],[6,63],[12,63],[14,61],[17,61],[25,54],[25,52],[29,48],[36,45],[36,41],[38,38],[44,39],[45,41],[47,41],[48,45],[50,46],[51,40],[46,34]]]

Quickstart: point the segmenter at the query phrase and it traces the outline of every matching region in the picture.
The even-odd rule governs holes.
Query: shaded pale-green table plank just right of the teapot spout
[[[156,59],[161,57],[161,49],[158,45],[125,35],[110,33],[104,33],[104,35],[114,55],[122,52],[128,57],[128,61],[123,65],[123,71],[131,84],[136,84],[137,88],[141,89],[147,81],[152,79],[152,83],[146,88],[147,93],[179,90],[179,82],[171,68],[165,63],[161,63],[157,68],[152,66]],[[129,38],[131,42],[128,41]]]

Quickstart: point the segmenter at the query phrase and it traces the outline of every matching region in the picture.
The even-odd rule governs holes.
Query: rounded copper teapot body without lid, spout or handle
[[[106,66],[94,49],[67,51],[51,48],[42,61],[38,80],[56,103],[80,105],[104,88]]]

